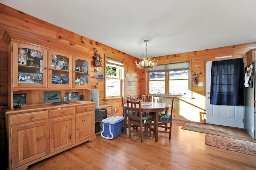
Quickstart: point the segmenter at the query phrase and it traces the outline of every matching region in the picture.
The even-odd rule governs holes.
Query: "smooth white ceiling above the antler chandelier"
[[[256,0],[0,0],[140,58],[256,41]]]

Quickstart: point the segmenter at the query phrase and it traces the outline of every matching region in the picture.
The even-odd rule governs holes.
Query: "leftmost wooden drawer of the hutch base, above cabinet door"
[[[22,113],[18,115],[10,115],[10,125],[18,123],[37,121],[42,119],[48,119],[48,111],[37,111],[32,113]]]

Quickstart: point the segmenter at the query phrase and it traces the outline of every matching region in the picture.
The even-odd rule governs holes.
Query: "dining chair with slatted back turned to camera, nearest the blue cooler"
[[[131,139],[131,133],[136,133],[140,135],[140,142],[143,143],[145,133],[149,133],[149,137],[151,137],[152,116],[142,113],[140,100],[136,102],[127,100],[127,112],[132,113],[128,114],[129,139]]]

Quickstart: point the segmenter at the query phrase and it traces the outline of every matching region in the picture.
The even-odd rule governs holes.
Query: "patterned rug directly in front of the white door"
[[[181,129],[256,142],[245,129],[186,121]]]

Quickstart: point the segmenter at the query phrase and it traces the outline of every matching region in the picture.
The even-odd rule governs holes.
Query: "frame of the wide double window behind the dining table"
[[[182,67],[182,64],[188,64],[188,68],[184,68]],[[178,68],[179,64],[181,65],[180,68]],[[174,68],[170,68],[174,66]],[[191,84],[191,80],[192,80],[192,77],[191,77],[191,72],[190,72],[190,68],[191,68],[191,61],[184,61],[184,62],[179,62],[179,63],[168,63],[168,64],[160,64],[158,65],[158,68],[156,69],[150,69],[147,71],[147,93],[149,93],[149,90],[150,90],[150,73],[151,72],[165,72],[165,82],[164,82],[164,95],[160,94],[150,94],[150,95],[154,95],[154,96],[168,96],[168,97],[191,97],[192,96],[192,84]],[[182,79],[182,80],[188,80],[188,92],[190,91],[191,93],[188,93],[186,95],[170,95],[169,94],[169,81],[170,81],[170,74],[169,72],[170,71],[176,71],[176,70],[188,70],[188,79]],[[177,80],[177,79],[175,79]],[[154,81],[154,80],[153,80]]]

